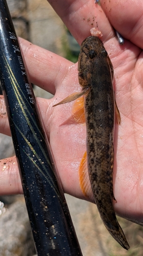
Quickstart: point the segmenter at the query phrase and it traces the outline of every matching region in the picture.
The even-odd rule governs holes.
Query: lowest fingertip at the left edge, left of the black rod
[[[0,195],[23,194],[16,157],[0,160]]]

